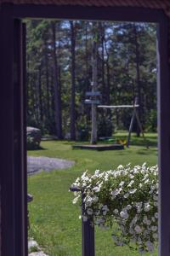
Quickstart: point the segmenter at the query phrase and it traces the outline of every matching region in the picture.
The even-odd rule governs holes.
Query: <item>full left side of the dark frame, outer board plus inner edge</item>
[[[0,119],[2,186],[2,255],[27,256],[26,149],[22,101],[22,36],[20,20],[14,23],[11,9],[0,16]],[[25,159],[25,160],[24,160]]]

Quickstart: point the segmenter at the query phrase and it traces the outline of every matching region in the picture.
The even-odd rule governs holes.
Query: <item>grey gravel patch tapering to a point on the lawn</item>
[[[58,158],[49,158],[45,156],[28,156],[27,157],[27,172],[28,175],[35,174],[37,172],[52,171],[58,169],[66,169],[75,164],[74,161],[62,160]]]

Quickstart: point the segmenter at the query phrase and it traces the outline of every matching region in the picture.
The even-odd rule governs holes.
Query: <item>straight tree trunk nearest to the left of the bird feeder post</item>
[[[76,106],[75,106],[75,47],[76,29],[74,21],[70,21],[71,26],[71,140],[76,140]]]

